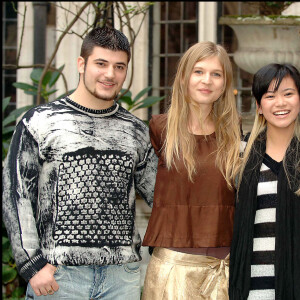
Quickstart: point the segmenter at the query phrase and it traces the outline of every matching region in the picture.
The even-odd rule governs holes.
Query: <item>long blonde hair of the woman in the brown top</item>
[[[233,187],[234,174],[239,165],[240,126],[232,87],[232,66],[226,50],[213,42],[200,42],[190,47],[179,61],[172,86],[171,105],[167,113],[164,155],[168,169],[176,167],[174,157],[183,159],[190,181],[196,174],[196,140],[189,132],[188,83],[195,64],[205,58],[217,56],[224,72],[224,89],[214,102],[211,116],[215,124],[217,141],[216,166],[228,187]],[[198,112],[199,113],[199,112]],[[201,112],[199,113],[201,114]],[[199,115],[201,120],[201,115]]]

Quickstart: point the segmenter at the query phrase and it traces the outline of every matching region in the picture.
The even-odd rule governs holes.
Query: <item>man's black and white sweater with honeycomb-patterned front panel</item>
[[[148,127],[118,104],[91,110],[63,98],[28,111],[3,168],[19,273],[141,260],[135,192],[152,206],[156,168]]]

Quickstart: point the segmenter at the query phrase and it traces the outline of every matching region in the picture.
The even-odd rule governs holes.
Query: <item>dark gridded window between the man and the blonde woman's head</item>
[[[167,110],[171,86],[182,54],[198,42],[198,2],[158,2],[150,11],[150,85],[166,96],[152,113]]]

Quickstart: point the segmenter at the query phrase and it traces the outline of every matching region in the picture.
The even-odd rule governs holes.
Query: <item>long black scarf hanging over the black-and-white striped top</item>
[[[276,300],[296,300],[300,297],[300,197],[294,193],[300,183],[299,149],[299,141],[294,137],[284,159],[286,172],[284,168],[281,168],[278,175],[275,244]],[[252,146],[237,194],[238,201],[230,252],[230,300],[246,300],[249,294],[257,184],[265,151],[266,131],[258,136]]]

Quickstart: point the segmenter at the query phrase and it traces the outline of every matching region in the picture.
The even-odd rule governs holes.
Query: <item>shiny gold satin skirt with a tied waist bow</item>
[[[142,300],[228,300],[229,254],[225,259],[155,248]]]

